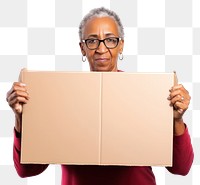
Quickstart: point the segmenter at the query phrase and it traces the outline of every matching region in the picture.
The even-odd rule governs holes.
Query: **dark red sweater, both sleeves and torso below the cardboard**
[[[15,168],[21,177],[42,173],[48,165],[20,164],[21,139],[14,134],[13,157]],[[173,174],[186,175],[192,165],[194,153],[188,129],[181,136],[174,136]],[[62,185],[155,185],[151,167],[138,166],[79,166],[62,165]]]

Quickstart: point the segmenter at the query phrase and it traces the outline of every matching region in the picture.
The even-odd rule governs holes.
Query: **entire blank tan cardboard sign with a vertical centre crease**
[[[22,70],[22,163],[171,166],[174,73]]]

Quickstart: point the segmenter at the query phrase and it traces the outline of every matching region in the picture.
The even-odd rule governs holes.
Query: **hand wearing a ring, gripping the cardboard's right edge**
[[[189,92],[181,84],[173,86],[169,91],[168,100],[170,105],[174,107],[174,120],[181,120],[190,104]]]

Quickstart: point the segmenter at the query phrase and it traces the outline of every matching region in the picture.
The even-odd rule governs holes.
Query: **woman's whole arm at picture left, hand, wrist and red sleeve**
[[[13,160],[14,166],[20,177],[29,177],[42,173],[48,165],[21,164],[21,127],[22,127],[22,105],[29,100],[26,85],[20,82],[13,83],[12,88],[7,93],[6,100],[15,114]]]

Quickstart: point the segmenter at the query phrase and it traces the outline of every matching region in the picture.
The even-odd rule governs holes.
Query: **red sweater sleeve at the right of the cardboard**
[[[188,128],[183,135],[174,136],[173,141],[173,166],[167,170],[177,175],[187,175],[194,159],[194,152],[191,144]]]

